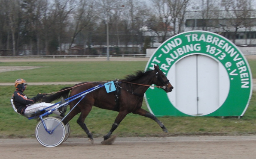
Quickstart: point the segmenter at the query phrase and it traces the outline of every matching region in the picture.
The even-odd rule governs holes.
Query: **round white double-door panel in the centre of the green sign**
[[[222,64],[204,55],[180,59],[168,72],[174,91],[169,100],[180,112],[207,115],[216,111],[229,93],[229,77]]]

